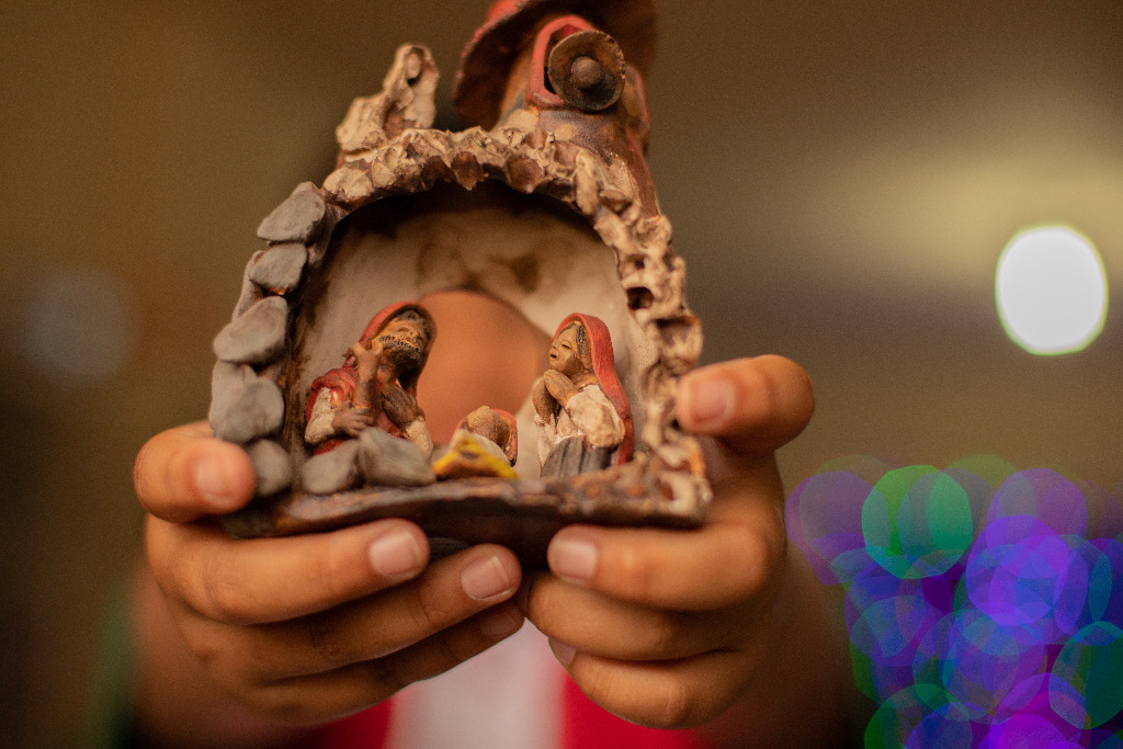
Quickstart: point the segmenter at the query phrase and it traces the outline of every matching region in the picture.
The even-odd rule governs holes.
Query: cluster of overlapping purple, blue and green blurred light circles
[[[994,456],[823,468],[788,533],[846,590],[879,705],[867,747],[1123,749],[1123,538],[1090,533],[1115,527],[1115,494]]]

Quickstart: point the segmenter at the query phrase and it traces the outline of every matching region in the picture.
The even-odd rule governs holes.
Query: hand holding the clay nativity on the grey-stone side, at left
[[[429,564],[424,533],[403,520],[230,538],[212,517],[250,499],[253,466],[203,423],[149,440],[134,479],[148,564],[184,647],[259,715],[309,724],[354,712],[522,625],[510,603],[521,569],[502,547]]]

